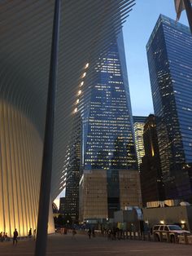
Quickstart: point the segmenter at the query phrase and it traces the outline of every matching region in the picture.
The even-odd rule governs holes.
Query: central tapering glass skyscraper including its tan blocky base
[[[111,218],[115,210],[141,203],[122,33],[91,76],[94,79],[88,71],[85,83],[91,90],[83,117],[81,220]]]

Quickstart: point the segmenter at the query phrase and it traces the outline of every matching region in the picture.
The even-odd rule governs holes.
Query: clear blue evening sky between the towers
[[[174,0],[136,0],[133,11],[124,23],[124,47],[133,115],[147,116],[153,113],[146,42],[159,14],[175,20]],[[188,25],[185,11],[179,22]]]

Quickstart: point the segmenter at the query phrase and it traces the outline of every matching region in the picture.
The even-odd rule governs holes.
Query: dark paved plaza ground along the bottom
[[[0,243],[0,255],[33,255],[35,241],[19,241],[13,246],[11,242]],[[174,245],[149,241],[107,241],[106,237],[76,235],[51,235],[48,238],[47,255],[51,256],[185,256],[192,255],[192,245]]]

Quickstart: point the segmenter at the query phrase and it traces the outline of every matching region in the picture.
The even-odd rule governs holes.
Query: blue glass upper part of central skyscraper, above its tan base
[[[136,168],[129,84],[122,34],[98,60],[84,119],[85,170]],[[92,75],[92,74],[91,74]]]

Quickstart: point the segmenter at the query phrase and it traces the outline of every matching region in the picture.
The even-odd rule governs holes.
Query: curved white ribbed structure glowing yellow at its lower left
[[[107,51],[134,0],[63,0],[51,200],[63,163],[83,68]],[[0,232],[37,227],[54,1],[0,1]],[[49,195],[47,195],[49,196]]]

